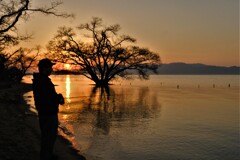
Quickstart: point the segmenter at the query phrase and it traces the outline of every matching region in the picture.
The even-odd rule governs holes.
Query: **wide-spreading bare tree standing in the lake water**
[[[90,34],[77,35],[72,28],[61,27],[48,49],[55,60],[79,65],[80,72],[97,86],[107,86],[117,76],[127,77],[130,70],[147,79],[148,71],[155,72],[160,64],[158,54],[127,45],[136,40],[127,35],[118,36],[119,25],[104,26],[102,19],[94,17],[78,29]]]

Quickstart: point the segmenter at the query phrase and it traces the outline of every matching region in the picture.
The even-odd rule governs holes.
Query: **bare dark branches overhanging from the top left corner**
[[[50,6],[37,8],[32,8],[31,2],[32,0],[0,1],[0,51],[9,45],[16,45],[19,41],[29,38],[29,35],[19,36],[16,24],[21,19],[27,20],[32,12],[41,12],[45,15],[54,15],[65,18],[73,16],[56,10],[62,2],[54,1]]]

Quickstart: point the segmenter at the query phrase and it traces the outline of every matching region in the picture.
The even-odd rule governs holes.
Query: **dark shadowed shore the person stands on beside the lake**
[[[32,86],[0,83],[0,159],[38,160],[40,130],[37,115],[29,110],[23,94]],[[85,159],[59,135],[54,152],[59,160]]]

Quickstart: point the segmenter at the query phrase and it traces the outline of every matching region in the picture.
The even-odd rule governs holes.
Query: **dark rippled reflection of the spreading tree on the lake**
[[[101,129],[103,134],[109,133],[112,121],[129,121],[131,125],[136,126],[136,121],[154,118],[161,109],[157,95],[150,92],[148,87],[93,87],[85,106],[81,117],[84,114],[94,114],[94,127]]]

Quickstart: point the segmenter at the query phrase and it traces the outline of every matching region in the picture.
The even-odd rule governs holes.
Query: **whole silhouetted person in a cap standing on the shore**
[[[41,130],[41,160],[53,160],[53,148],[58,131],[58,106],[64,104],[62,94],[57,94],[51,79],[52,63],[45,58],[39,61],[39,73],[33,74],[33,95]]]

